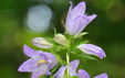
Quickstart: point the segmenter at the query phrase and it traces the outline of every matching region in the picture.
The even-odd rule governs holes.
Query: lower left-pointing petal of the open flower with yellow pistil
[[[19,67],[18,71],[34,71],[38,68],[38,62],[39,59],[30,58]]]

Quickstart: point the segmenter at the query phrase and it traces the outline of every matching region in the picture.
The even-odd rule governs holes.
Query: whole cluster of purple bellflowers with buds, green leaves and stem
[[[50,78],[90,78],[90,75],[84,69],[76,68],[80,64],[79,59],[70,63],[70,54],[75,54],[83,58],[103,59],[106,57],[105,52],[96,45],[88,44],[82,37],[87,34],[82,32],[84,27],[96,18],[96,14],[85,14],[85,2],[80,2],[76,7],[70,9],[65,21],[65,33],[54,34],[53,38],[50,37],[34,37],[32,44],[37,47],[44,48],[48,52],[35,51],[28,45],[23,46],[23,52],[27,56],[31,57],[25,60],[20,67],[19,71],[32,73],[32,78],[40,76],[49,76]],[[59,51],[65,49],[66,63],[58,54]],[[107,75],[101,74],[94,78],[107,78]]]

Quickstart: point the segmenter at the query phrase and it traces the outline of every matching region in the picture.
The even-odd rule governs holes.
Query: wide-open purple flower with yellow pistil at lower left
[[[51,75],[50,70],[56,65],[56,56],[42,52],[34,51],[28,45],[23,46],[23,52],[27,56],[31,57],[25,60],[18,69],[18,71],[32,73],[32,78],[39,78],[41,75]]]

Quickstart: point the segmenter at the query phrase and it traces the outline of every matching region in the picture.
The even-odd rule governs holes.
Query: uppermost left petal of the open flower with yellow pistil
[[[42,53],[42,51],[34,51],[34,49],[30,48],[28,45],[23,46],[23,52],[27,56],[30,56],[30,57],[35,56],[39,53]]]

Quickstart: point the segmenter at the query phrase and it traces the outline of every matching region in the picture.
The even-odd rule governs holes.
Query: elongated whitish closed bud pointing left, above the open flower
[[[35,37],[32,40],[32,44],[34,46],[38,46],[40,48],[51,48],[53,44],[49,43],[43,37]]]

